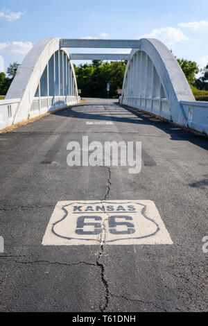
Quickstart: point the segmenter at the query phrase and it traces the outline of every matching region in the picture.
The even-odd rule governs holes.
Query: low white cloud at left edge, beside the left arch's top
[[[26,55],[33,47],[32,42],[4,42],[0,43],[0,51]]]

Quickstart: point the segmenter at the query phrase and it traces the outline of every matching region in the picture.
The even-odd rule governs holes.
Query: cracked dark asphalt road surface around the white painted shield
[[[67,144],[83,136],[141,141],[141,172],[67,166]],[[206,311],[207,149],[205,137],[93,98],[1,134],[0,311]],[[68,200],[152,200],[173,244],[43,246]]]

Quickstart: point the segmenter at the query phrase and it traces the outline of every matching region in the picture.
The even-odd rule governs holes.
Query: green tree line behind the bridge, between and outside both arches
[[[176,58],[176,57],[175,57]],[[195,61],[176,58],[184,75],[187,77],[191,89],[208,91],[208,64],[204,69],[199,70]],[[93,60],[92,63],[74,65],[78,89],[81,89],[82,97],[107,98],[107,83],[110,83],[110,98],[118,98],[117,89],[123,85],[123,76],[127,61],[102,61]],[[0,95],[6,95],[12,80],[17,74],[19,64],[14,62],[9,65],[7,74],[0,73]],[[200,71],[200,78],[196,75]]]

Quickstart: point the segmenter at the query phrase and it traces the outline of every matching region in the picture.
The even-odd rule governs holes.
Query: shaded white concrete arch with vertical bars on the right
[[[180,101],[196,100],[171,51],[159,40],[141,39],[130,53],[120,101],[187,126]]]

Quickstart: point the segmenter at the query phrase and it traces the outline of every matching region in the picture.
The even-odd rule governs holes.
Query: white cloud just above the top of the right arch
[[[189,37],[184,35],[180,28],[174,27],[155,28],[150,33],[141,35],[139,38],[156,38],[167,45],[189,40]]]

